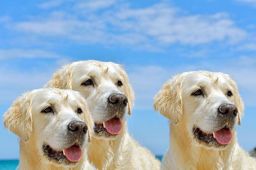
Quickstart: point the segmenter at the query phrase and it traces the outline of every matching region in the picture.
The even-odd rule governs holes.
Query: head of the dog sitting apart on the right
[[[196,145],[223,149],[231,142],[236,123],[241,124],[244,106],[229,75],[195,71],[165,83],[154,98],[154,108],[175,124],[182,121]]]

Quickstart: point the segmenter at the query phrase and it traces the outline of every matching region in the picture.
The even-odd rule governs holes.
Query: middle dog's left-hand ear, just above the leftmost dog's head
[[[72,89],[71,83],[71,71],[72,64],[67,64],[62,66],[55,72],[50,79],[50,81],[45,85],[45,87],[55,87],[59,89]]]

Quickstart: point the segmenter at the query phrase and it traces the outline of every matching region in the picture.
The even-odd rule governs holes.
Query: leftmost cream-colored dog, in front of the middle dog
[[[93,120],[85,99],[76,91],[29,91],[5,113],[4,125],[20,136],[17,169],[95,169],[86,149]]]

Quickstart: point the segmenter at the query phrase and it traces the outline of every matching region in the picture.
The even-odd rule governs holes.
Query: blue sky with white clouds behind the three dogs
[[[66,62],[113,61],[124,65],[136,94],[130,134],[162,155],[168,120],[154,111],[152,98],[172,75],[205,69],[237,82],[245,103],[238,141],[250,150],[256,146],[255,16],[256,0],[2,1],[0,115]],[[18,137],[2,124],[0,136],[0,159],[18,158]]]

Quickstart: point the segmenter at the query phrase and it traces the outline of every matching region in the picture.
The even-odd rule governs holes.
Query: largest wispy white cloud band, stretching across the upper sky
[[[70,9],[72,12],[59,12],[61,15],[56,15],[58,12],[52,11],[48,16],[38,16],[13,25],[16,30],[29,35],[153,51],[175,43],[236,43],[247,36],[247,32],[236,27],[226,13],[182,14],[167,2],[132,8],[127,3],[115,0],[78,1],[70,3]]]

